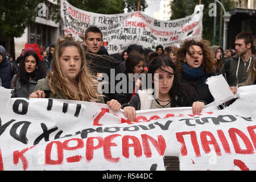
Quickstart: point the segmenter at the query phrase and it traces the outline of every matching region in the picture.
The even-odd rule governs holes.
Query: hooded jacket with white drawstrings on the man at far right
[[[250,59],[247,62],[243,62],[239,55],[234,55],[230,59],[229,68],[225,70],[225,64],[228,64],[228,60],[225,60],[225,63],[222,65],[220,74],[226,78],[229,86],[237,86],[238,84],[244,82],[248,76],[249,66],[253,56],[251,55]]]

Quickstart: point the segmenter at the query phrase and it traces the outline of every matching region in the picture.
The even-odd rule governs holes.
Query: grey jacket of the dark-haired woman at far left
[[[18,75],[14,75],[13,79],[11,80],[11,89],[14,89],[13,93],[11,94],[11,97],[28,98],[28,96],[30,96],[30,94],[33,92],[38,81],[30,80],[27,84],[22,84],[22,82],[19,81],[19,77],[18,77],[16,79],[16,86],[15,86],[14,82],[16,77],[18,77]]]

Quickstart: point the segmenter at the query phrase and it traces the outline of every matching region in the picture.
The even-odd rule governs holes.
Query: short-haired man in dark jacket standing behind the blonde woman
[[[98,80],[102,80],[102,74],[105,73],[108,75],[109,84],[105,85],[108,86],[108,93],[104,92],[104,101],[110,101],[112,99],[117,100],[115,89],[114,93],[110,92],[111,82],[115,82],[115,80],[110,80],[111,78],[115,78],[115,76],[120,73],[118,61],[114,59],[114,57],[110,56],[108,51],[106,50],[105,46],[103,46],[103,39],[102,39],[102,32],[100,28],[96,26],[92,26],[86,29],[84,35],[84,42],[82,46],[85,50],[86,61],[88,61],[89,69],[94,73],[95,76],[98,77]],[[114,69],[114,75],[110,76],[110,69]],[[113,73],[113,70],[112,70]],[[114,85],[115,85],[114,84]],[[105,90],[105,89],[104,89]]]

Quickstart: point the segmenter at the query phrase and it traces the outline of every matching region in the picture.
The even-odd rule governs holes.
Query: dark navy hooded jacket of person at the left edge
[[[6,51],[3,46],[0,46],[0,52],[3,56],[3,61],[0,63],[0,78],[2,81],[2,86],[6,89],[10,89],[11,79],[18,72],[18,70],[16,70],[16,67],[11,65],[10,61],[7,59]]]

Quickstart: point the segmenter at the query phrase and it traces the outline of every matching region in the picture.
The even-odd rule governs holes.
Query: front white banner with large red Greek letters
[[[92,102],[10,98],[0,87],[0,170],[255,170],[256,85],[224,110],[123,111]]]

